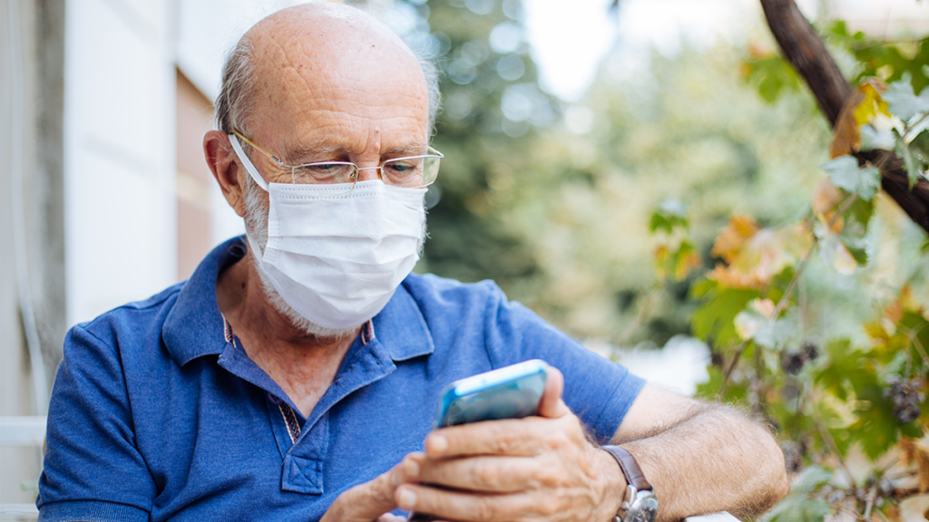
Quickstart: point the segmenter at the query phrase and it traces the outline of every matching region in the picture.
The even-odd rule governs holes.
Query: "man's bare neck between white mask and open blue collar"
[[[358,331],[321,337],[300,331],[269,302],[246,254],[219,274],[216,301],[249,359],[281,386],[307,417],[333,383]]]

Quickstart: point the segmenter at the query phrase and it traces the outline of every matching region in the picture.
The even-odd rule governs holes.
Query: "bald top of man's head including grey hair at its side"
[[[216,117],[228,134],[308,124],[301,119],[308,105],[338,105],[351,118],[391,103],[419,104],[428,134],[438,111],[431,63],[367,13],[313,3],[282,9],[245,33],[227,58]]]

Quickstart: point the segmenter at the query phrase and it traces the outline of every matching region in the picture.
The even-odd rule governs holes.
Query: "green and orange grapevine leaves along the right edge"
[[[910,187],[926,175],[929,45],[843,22],[826,34],[857,89],[805,213],[767,226],[732,215],[717,236],[719,263],[692,294],[693,333],[716,361],[699,393],[778,429],[797,475],[766,520],[902,520],[929,499],[927,242],[880,192],[881,170],[896,154]],[[799,87],[785,64],[750,47],[742,72],[779,102]]]

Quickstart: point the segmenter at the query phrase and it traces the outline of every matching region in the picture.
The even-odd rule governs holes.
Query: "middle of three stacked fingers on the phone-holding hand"
[[[495,493],[554,488],[555,465],[544,465],[538,457],[478,456],[431,461],[420,455],[404,460],[412,482],[436,484],[451,489]]]

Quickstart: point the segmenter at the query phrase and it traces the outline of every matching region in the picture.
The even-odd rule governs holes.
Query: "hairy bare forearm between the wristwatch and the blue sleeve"
[[[737,411],[691,403],[674,424],[619,433],[659,499],[659,520],[729,511],[762,513],[787,491],[783,453],[760,424]]]

